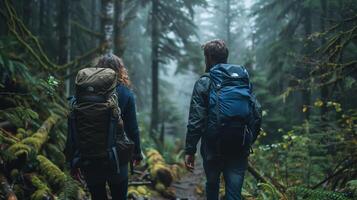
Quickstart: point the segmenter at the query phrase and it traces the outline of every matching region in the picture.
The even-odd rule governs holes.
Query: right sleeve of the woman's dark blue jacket
[[[135,98],[133,94],[129,95],[125,112],[123,113],[124,130],[128,137],[135,143],[134,159],[141,160],[140,134],[138,122],[136,119]]]

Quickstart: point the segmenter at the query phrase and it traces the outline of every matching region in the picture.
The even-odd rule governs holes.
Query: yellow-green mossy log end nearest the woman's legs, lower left
[[[46,157],[39,155],[37,156],[39,161],[39,170],[46,177],[50,184],[63,187],[66,181],[66,175],[50,160]]]

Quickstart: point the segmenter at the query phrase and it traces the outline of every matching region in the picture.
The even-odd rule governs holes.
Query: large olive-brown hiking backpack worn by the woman
[[[103,161],[119,173],[119,166],[130,161],[134,143],[123,129],[117,74],[109,68],[85,68],[75,84],[66,145],[71,167]]]

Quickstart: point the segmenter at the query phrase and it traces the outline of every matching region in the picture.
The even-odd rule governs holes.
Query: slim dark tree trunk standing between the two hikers
[[[152,70],[152,105],[150,134],[156,138],[159,122],[159,30],[158,30],[158,0],[152,0],[151,11],[151,70]]]

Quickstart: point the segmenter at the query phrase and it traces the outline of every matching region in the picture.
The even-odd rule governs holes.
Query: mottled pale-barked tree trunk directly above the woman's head
[[[104,53],[113,53],[113,0],[102,0],[101,5],[101,32],[104,34],[101,43],[105,43]]]

